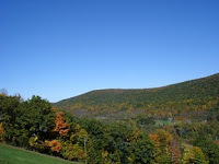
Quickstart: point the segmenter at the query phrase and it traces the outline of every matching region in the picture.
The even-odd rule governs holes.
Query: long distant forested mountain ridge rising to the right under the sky
[[[89,117],[197,116],[218,109],[219,73],[155,89],[97,90],[54,106]]]

